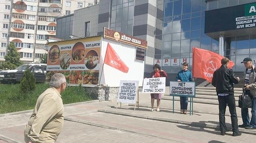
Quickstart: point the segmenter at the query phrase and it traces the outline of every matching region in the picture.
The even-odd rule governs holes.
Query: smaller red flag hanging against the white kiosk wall
[[[120,59],[116,51],[111,47],[109,43],[108,43],[104,63],[124,73],[128,73],[129,67],[127,67],[126,64],[122,61],[122,59]]]

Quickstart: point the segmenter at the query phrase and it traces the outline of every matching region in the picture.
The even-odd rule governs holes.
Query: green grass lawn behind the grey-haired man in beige
[[[0,114],[34,109],[38,96],[49,88],[49,84],[36,84],[33,92],[22,94],[19,85],[0,84]],[[61,95],[63,104],[94,100],[81,86],[67,86]]]

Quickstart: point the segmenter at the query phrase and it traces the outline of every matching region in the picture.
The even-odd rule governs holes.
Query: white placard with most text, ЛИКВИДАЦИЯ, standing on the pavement
[[[138,81],[120,81],[117,102],[136,103]]]

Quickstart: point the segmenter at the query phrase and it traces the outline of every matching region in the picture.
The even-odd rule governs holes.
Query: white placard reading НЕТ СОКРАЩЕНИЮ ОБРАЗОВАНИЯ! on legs
[[[195,82],[170,81],[170,95],[195,96]]]

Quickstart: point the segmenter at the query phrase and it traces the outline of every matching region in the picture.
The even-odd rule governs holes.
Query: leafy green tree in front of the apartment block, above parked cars
[[[2,67],[3,69],[13,70],[16,67],[22,65],[23,62],[20,61],[20,53],[17,52],[17,48],[15,47],[14,42],[10,42],[7,48],[8,53],[4,57],[5,62],[2,64]]]

